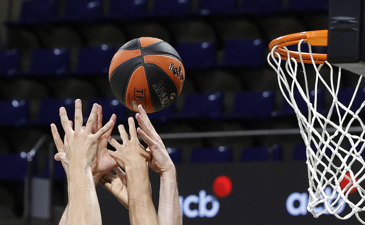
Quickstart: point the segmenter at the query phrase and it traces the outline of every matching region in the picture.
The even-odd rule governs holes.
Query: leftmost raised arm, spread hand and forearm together
[[[99,139],[107,133],[114,121],[110,120],[94,134],[92,130],[97,123],[99,106],[93,105],[86,126],[82,127],[81,100],[75,101],[74,130],[64,107],[59,109],[62,127],[65,131],[65,142],[62,143],[54,124],[51,124],[54,141],[59,151],[55,159],[61,160],[64,165],[67,179],[69,201],[65,210],[66,225],[100,225],[101,214],[97,200],[92,165],[96,156]],[[109,133],[110,136],[110,133]],[[96,168],[102,168],[99,164]]]

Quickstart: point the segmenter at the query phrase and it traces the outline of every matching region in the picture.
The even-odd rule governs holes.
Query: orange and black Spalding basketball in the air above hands
[[[109,81],[115,97],[137,112],[147,113],[172,104],[183,88],[185,70],[176,50],[158,38],[136,38],[115,53],[109,68]]]

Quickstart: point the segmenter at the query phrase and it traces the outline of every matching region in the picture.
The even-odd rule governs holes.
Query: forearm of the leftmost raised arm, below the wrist
[[[68,176],[66,225],[101,225],[101,213],[90,166],[77,165]]]

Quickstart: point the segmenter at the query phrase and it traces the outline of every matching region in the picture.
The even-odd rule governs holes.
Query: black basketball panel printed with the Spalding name
[[[165,109],[177,98],[175,83],[161,67],[153,63],[146,63],[145,71],[153,111]],[[170,98],[172,95],[174,95],[173,99]]]

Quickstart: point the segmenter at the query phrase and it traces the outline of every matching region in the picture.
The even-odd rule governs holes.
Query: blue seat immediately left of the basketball
[[[75,72],[78,74],[107,74],[115,52],[114,47],[106,44],[101,47],[81,47]]]

